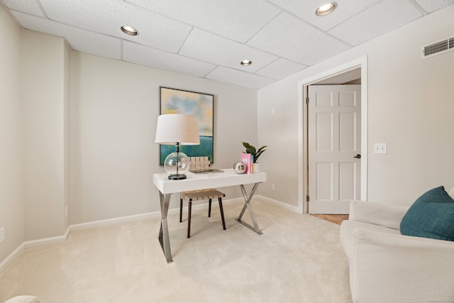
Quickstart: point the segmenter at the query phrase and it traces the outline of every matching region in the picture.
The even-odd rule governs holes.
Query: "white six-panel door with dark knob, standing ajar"
[[[311,85],[309,213],[348,214],[361,189],[361,85]]]

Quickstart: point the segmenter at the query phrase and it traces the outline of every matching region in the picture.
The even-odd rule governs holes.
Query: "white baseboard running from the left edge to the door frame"
[[[297,206],[290,206],[289,204],[285,204],[283,202],[279,202],[277,200],[263,197],[260,195],[256,195],[254,197],[263,199],[272,204],[276,204],[278,206],[284,207],[285,209],[289,209],[290,211],[295,211],[298,213],[302,212]],[[223,200],[224,205],[233,203],[233,202],[244,202],[244,199],[242,197],[240,197],[240,198],[236,198],[236,199]],[[216,207],[216,205],[217,205],[217,203],[213,204],[214,207]],[[204,204],[196,204],[192,207],[193,208],[204,207]],[[175,214],[178,212],[179,212],[179,207],[177,207],[175,209],[169,209],[170,214]],[[13,262],[13,260],[16,259],[18,257],[18,255],[20,255],[23,252],[23,250],[25,250],[26,248],[65,242],[67,240],[67,238],[70,236],[71,231],[77,231],[77,230],[85,229],[85,228],[94,228],[94,227],[99,227],[99,226],[108,226],[108,225],[112,225],[112,224],[119,224],[119,223],[125,223],[125,222],[139,221],[139,220],[143,220],[143,219],[156,218],[159,216],[161,216],[160,211],[153,211],[153,212],[149,212],[149,213],[145,213],[145,214],[136,214],[133,216],[121,216],[121,217],[114,218],[114,219],[92,221],[92,222],[81,223],[81,224],[72,224],[67,228],[65,234],[62,236],[43,238],[43,239],[38,239],[38,240],[33,240],[33,241],[25,241],[25,242],[21,243],[21,245],[18,246],[18,248],[16,248],[16,250],[14,250],[12,253],[10,253],[9,256],[6,257],[6,259],[0,263],[0,273],[3,272],[8,267],[8,265],[11,262]]]

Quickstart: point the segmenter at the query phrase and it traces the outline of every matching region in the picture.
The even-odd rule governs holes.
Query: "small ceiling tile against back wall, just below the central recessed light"
[[[276,81],[275,79],[253,75],[248,72],[233,70],[222,66],[216,67],[213,72],[206,76],[206,79],[235,84],[240,87],[250,87],[253,89],[260,89],[261,87],[265,87]]]

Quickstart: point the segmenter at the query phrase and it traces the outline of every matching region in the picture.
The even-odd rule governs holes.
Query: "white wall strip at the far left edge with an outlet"
[[[21,165],[21,28],[0,6],[0,263],[25,239]]]

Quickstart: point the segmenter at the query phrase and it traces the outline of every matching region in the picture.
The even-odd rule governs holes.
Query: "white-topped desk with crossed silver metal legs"
[[[262,234],[260,228],[258,228],[257,221],[255,221],[253,209],[250,206],[250,200],[252,199],[258,184],[267,180],[267,174],[265,172],[258,172],[251,175],[238,175],[233,168],[226,168],[222,170],[224,172],[211,174],[193,174],[192,172],[188,172],[186,174],[187,179],[184,180],[169,180],[167,178],[167,173],[153,174],[153,183],[155,184],[155,187],[159,189],[161,205],[161,227],[158,238],[165,258],[167,259],[167,263],[172,262],[169,228],[167,226],[167,212],[169,211],[170,196],[175,192],[240,185],[245,204],[236,221],[250,228],[252,231],[255,231],[255,233],[258,233],[259,235]],[[251,189],[249,194],[246,192],[244,184],[254,184],[253,189]],[[253,221],[254,226],[250,226],[249,224],[241,221],[241,217],[246,209],[249,211],[250,219]]]

